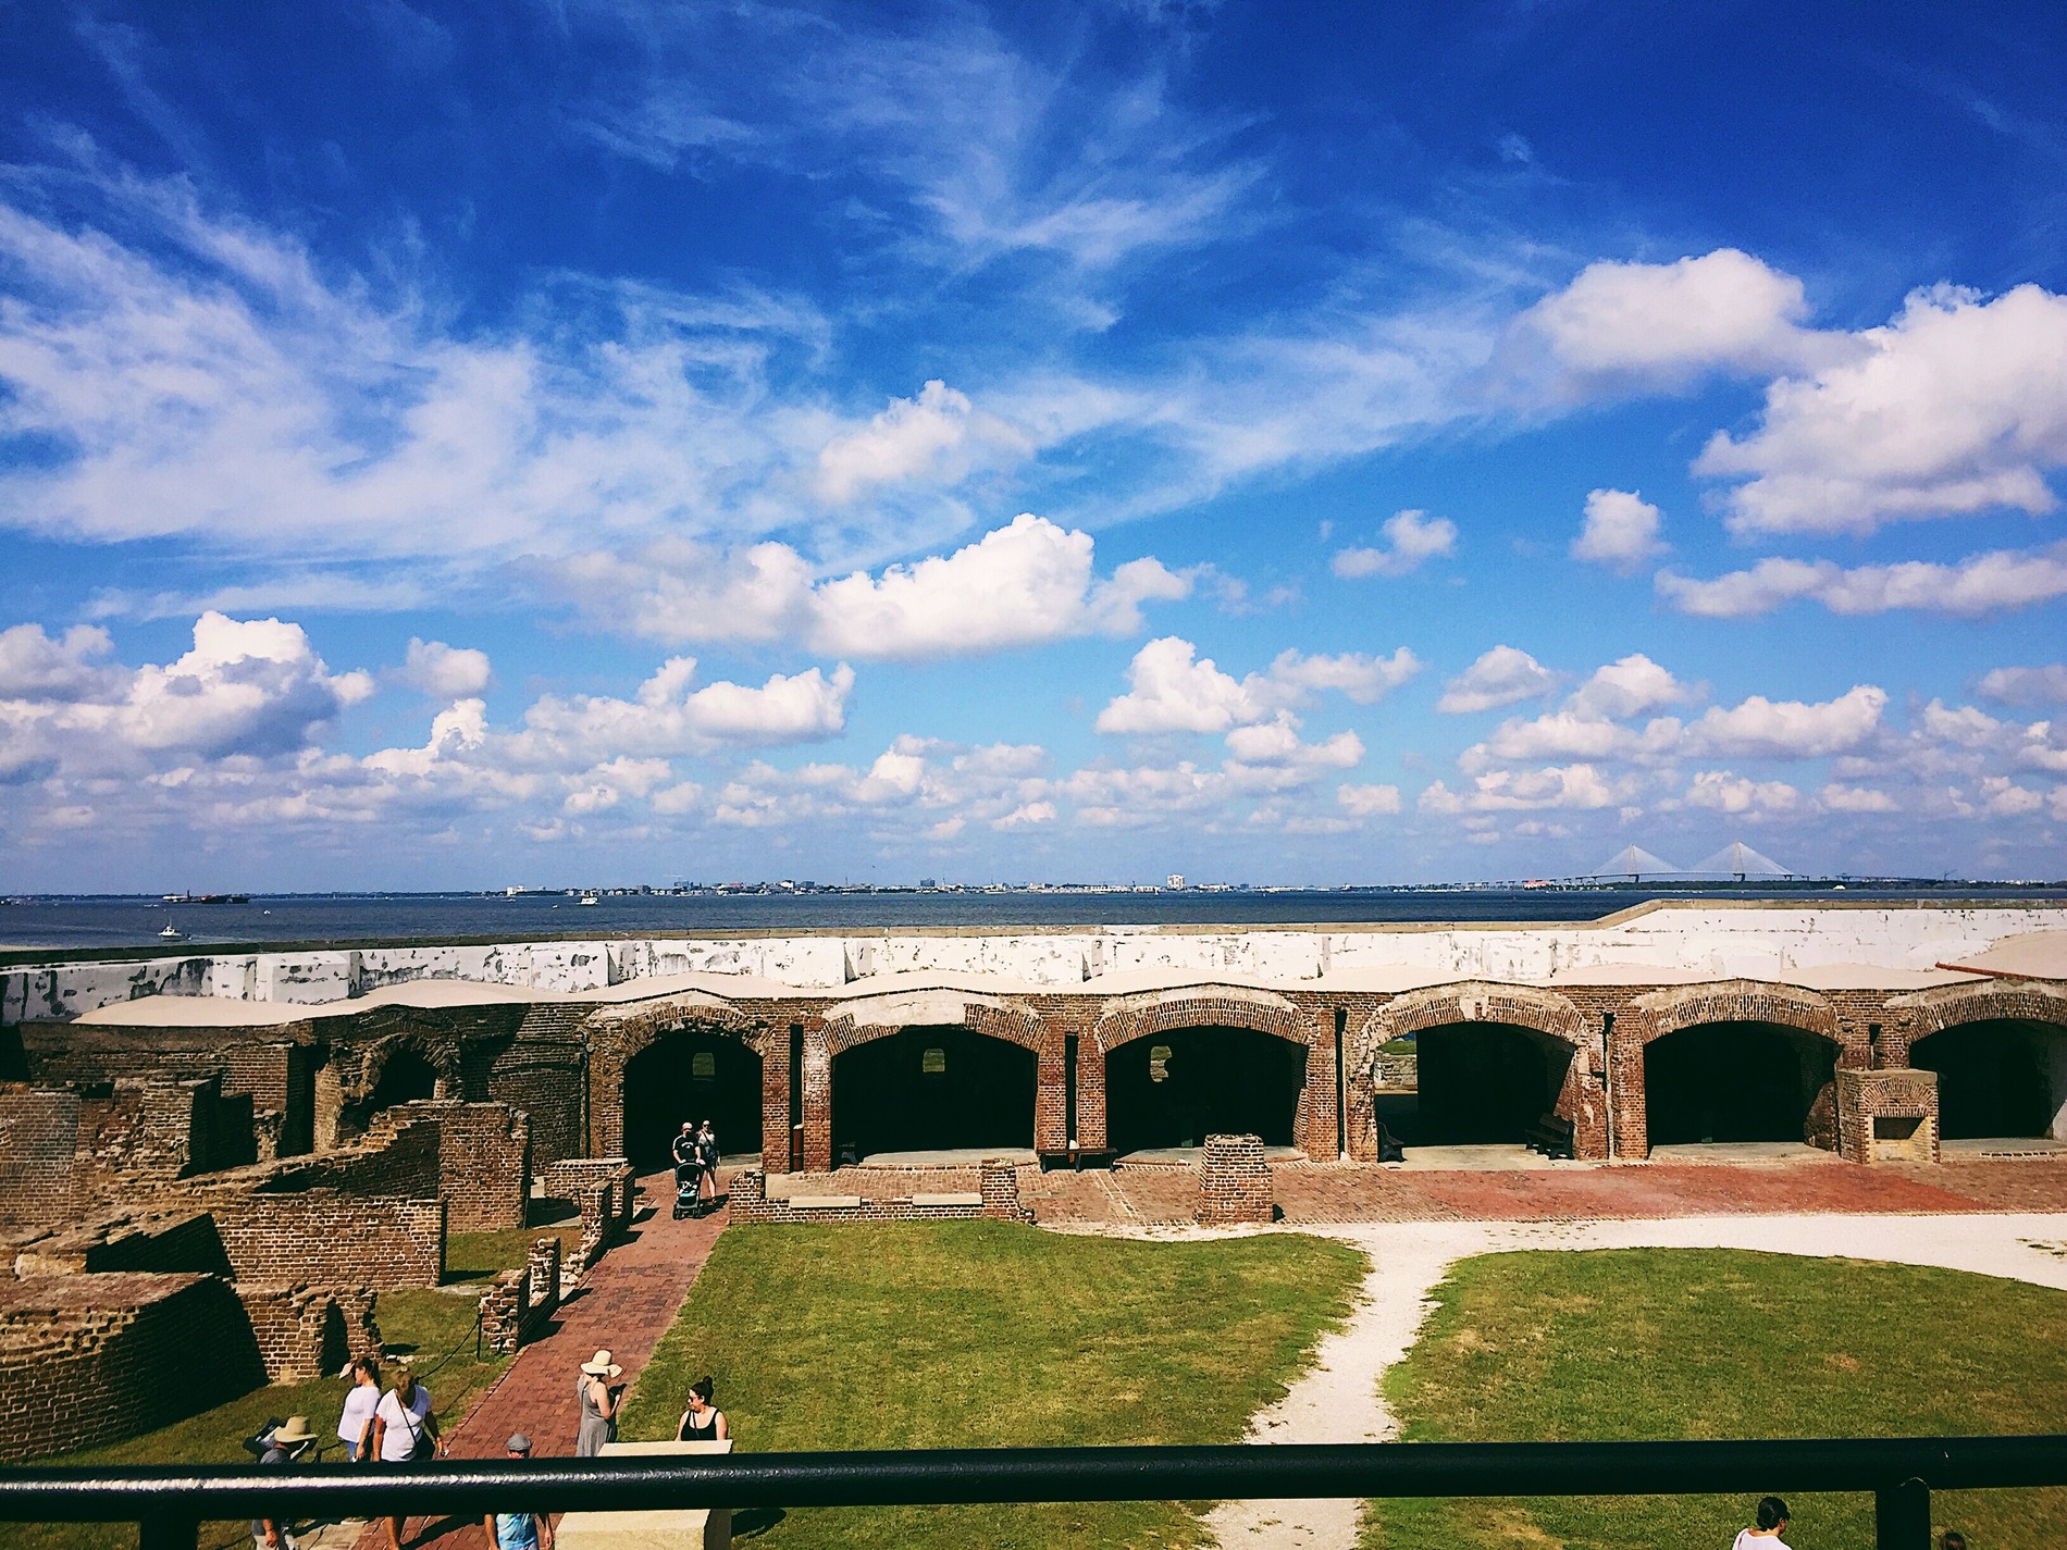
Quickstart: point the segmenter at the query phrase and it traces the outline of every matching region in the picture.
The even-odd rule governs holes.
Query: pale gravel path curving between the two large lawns
[[[1778,1215],[1670,1221],[1399,1221],[1337,1228],[1370,1254],[1350,1323],[1315,1366],[1248,1422],[1251,1443],[1387,1443],[1399,1424],[1379,1374],[1408,1354],[1449,1267],[1511,1248],[1755,1248],[1885,1259],[2067,1290],[2067,1215]],[[1356,1500],[1222,1502],[1205,1515],[1224,1550],[1354,1550]]]

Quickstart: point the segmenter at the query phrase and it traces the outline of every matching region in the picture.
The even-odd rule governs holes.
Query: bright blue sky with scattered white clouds
[[[2067,874],[2057,8],[0,4],[0,887]]]

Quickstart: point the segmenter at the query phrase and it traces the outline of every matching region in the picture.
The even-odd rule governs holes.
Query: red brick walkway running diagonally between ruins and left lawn
[[[564,1459],[575,1453],[581,1405],[575,1370],[608,1347],[635,1383],[659,1337],[668,1333],[682,1298],[695,1283],[726,1213],[676,1221],[674,1180],[641,1180],[641,1209],[630,1234],[597,1261],[581,1290],[560,1304],[548,1333],[521,1352],[488,1395],[451,1434],[455,1459],[500,1459],[511,1432],[531,1438],[531,1457]],[[438,1550],[488,1550],[480,1519],[420,1519],[403,1525],[403,1544]],[[384,1550],[378,1523],[360,1536],[358,1550]]]

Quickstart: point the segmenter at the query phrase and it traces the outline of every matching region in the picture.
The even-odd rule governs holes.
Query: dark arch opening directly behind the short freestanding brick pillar
[[[1246,1027],[1180,1027],[1106,1054],[1114,1151],[1203,1147],[1209,1135],[1296,1143],[1306,1046]]]

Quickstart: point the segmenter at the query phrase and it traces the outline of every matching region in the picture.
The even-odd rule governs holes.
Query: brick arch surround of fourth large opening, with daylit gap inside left
[[[1393,996],[1364,1019],[1352,1044],[1350,1075],[1354,1081],[1348,1083],[1346,1091],[1350,1149],[1356,1155],[1377,1155],[1372,1060],[1379,1046],[1403,1033],[1426,1033],[1457,1023],[1525,1027],[1569,1046],[1571,1062],[1563,1083],[1559,1083],[1552,1112],[1571,1120],[1575,1155],[1608,1155],[1606,1102],[1600,1091],[1600,1040],[1587,1029],[1585,1017],[1554,990],[1488,980],[1410,990],[1403,996]]]

